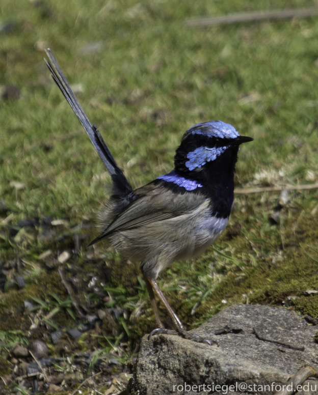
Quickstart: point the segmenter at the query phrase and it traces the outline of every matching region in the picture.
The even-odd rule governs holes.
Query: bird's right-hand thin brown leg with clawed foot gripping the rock
[[[174,334],[174,335],[181,335],[184,338],[188,339],[188,340],[192,340],[194,342],[197,343],[207,343],[209,345],[213,344],[214,342],[208,339],[205,339],[201,336],[198,336],[196,334],[191,334],[188,333],[183,325],[182,322],[180,321],[179,317],[175,314],[175,312],[173,311],[173,309],[171,308],[170,304],[168,303],[167,299],[165,298],[165,295],[162,293],[161,289],[158,287],[158,284],[156,282],[156,280],[154,280],[153,278],[149,278],[146,277],[146,275],[144,274],[145,279],[147,279],[148,284],[151,288],[151,293],[153,295],[153,291],[155,292],[155,294],[158,296],[158,298],[160,298],[160,300],[163,302],[164,306],[166,307],[170,317],[172,318],[172,321],[174,322],[174,325],[176,327],[177,330],[170,330],[170,329],[165,329],[164,327],[159,327],[154,329],[153,331],[150,332],[149,337],[151,337],[153,334]],[[147,284],[146,281],[146,284]],[[149,288],[147,286],[148,292],[149,292]],[[149,292],[149,296],[150,296],[150,292]],[[151,300],[151,296],[150,296],[150,300]],[[155,301],[154,301],[155,304]],[[156,305],[155,305],[156,306]]]

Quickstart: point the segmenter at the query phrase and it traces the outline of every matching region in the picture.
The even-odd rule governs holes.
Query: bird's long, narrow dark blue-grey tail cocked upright
[[[91,142],[98,152],[98,155],[110,172],[113,181],[113,196],[119,199],[125,198],[131,191],[133,191],[133,188],[131,188],[129,181],[118,167],[118,164],[105,144],[98,129],[88,120],[83,108],[81,107],[81,104],[78,103],[78,100],[72,92],[69,83],[67,82],[67,79],[65,78],[63,71],[61,70],[54,55],[49,48],[45,49],[45,52],[48,56],[49,62],[47,62],[46,59],[44,60],[52,74],[52,78],[57,83],[57,86],[60,88],[69,105],[72,107],[76,117],[81,122],[82,126],[86,130],[86,133],[91,139]]]

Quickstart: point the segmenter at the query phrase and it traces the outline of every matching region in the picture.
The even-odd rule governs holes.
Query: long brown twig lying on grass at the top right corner
[[[256,20],[273,20],[286,18],[310,18],[318,14],[318,7],[299,8],[299,9],[285,9],[285,10],[268,10],[268,11],[252,11],[242,12],[238,14],[229,14],[215,16],[212,18],[191,18],[184,21],[186,27],[205,27],[212,25],[240,23],[240,22],[254,22]]]

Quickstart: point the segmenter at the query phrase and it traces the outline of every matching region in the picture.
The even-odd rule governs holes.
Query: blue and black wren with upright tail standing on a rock
[[[53,79],[112,178],[110,199],[99,214],[101,233],[90,244],[108,239],[115,250],[140,263],[158,326],[150,335],[179,334],[210,344],[184,330],[156,278],[172,262],[199,255],[224,231],[233,203],[239,146],[253,139],[241,136],[233,126],[221,121],[195,125],[181,139],[174,170],[133,190],[96,126],[85,115],[54,55],[49,49],[46,54]],[[154,295],[166,307],[175,330],[164,328]]]

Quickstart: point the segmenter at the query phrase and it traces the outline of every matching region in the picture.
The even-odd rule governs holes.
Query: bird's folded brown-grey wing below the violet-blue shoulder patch
[[[90,244],[100,241],[114,232],[126,231],[189,214],[205,202],[203,195],[172,193],[162,186],[150,183],[134,191],[138,198],[130,203],[109,226]]]

